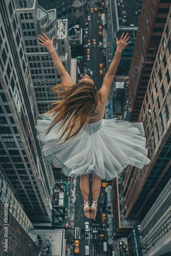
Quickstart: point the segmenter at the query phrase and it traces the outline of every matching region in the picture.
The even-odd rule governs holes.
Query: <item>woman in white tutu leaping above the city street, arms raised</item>
[[[37,139],[44,143],[41,152],[52,164],[61,167],[66,176],[80,176],[83,210],[88,219],[96,217],[101,179],[114,179],[129,164],[143,168],[150,162],[142,123],[103,119],[121,52],[130,44],[129,38],[128,33],[123,33],[120,40],[116,38],[115,56],[97,91],[87,74],[74,84],[53,47],[54,38],[50,40],[45,33],[38,37],[38,44],[50,52],[62,83],[51,88],[61,99],[52,104],[52,110],[40,115],[35,126]]]

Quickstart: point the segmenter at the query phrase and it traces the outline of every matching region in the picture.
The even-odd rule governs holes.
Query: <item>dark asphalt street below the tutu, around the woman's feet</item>
[[[92,176],[90,175],[90,194],[89,201],[90,205],[92,203]],[[79,193],[77,193],[79,191]],[[106,195],[104,190],[101,188],[100,196],[98,199],[98,209],[97,215],[94,220],[87,219],[84,216],[83,211],[83,198],[79,187],[79,177],[76,182],[76,207],[75,207],[75,219],[74,219],[74,240],[79,240],[79,253],[74,253],[74,255],[85,255],[85,245],[89,245],[91,256],[106,256],[106,252],[103,252],[103,242],[106,242],[106,224],[102,223],[102,213],[105,212],[105,208],[102,207],[102,202],[105,201]],[[89,232],[85,232],[84,223],[89,222]],[[97,230],[98,233],[93,233],[93,230]],[[84,238],[82,238],[84,234]],[[104,234],[104,237],[99,237],[99,234]]]

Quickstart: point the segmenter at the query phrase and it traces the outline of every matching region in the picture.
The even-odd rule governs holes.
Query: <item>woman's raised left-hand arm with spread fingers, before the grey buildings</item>
[[[74,84],[53,47],[54,37],[50,40],[45,33],[43,35],[38,35],[38,39],[40,40],[38,44],[44,46],[50,52],[54,65],[62,79],[62,83]]]

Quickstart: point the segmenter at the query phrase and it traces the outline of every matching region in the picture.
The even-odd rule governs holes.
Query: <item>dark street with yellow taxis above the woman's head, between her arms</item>
[[[91,17],[91,20],[88,20],[88,15],[85,17],[85,22],[88,22],[88,36],[85,38],[88,42],[88,39],[91,41],[91,45],[87,48],[90,49],[90,60],[87,60],[87,70],[93,71],[92,79],[95,82],[95,86],[97,90],[99,90],[102,86],[103,78],[99,74],[99,63],[103,63],[103,53],[102,47],[99,47],[99,42],[102,40],[99,38],[99,26],[102,26],[101,18],[98,17],[99,10],[97,12],[90,13],[90,5],[94,8],[98,6],[95,3],[88,2],[88,15]],[[96,45],[93,45],[93,39],[96,39]],[[90,76],[90,71],[87,71],[87,74]]]

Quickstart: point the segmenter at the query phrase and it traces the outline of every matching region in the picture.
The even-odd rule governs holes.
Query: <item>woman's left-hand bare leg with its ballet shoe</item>
[[[88,204],[88,202],[89,202],[89,174],[80,176],[79,186],[80,186],[82,197],[84,200],[83,206],[85,206],[87,204],[87,206],[84,208],[84,214],[88,219],[90,219],[90,206]]]

